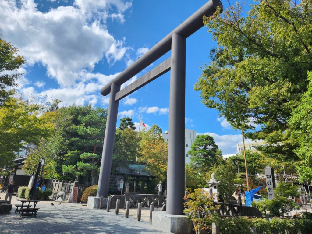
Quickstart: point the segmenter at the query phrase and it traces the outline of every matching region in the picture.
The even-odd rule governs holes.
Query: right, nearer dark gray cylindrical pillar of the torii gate
[[[167,171],[168,214],[183,214],[185,191],[185,49],[186,38],[172,35]]]

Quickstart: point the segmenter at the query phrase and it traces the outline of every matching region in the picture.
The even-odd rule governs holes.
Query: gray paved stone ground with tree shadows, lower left
[[[169,234],[149,225],[149,211],[142,210],[140,222],[136,220],[136,209],[130,209],[129,218],[124,217],[124,210],[88,209],[85,205],[74,203],[58,203],[51,201],[38,202],[40,208],[36,218],[20,217],[14,213],[15,204],[21,204],[18,198],[12,197],[13,208],[9,214],[0,214],[1,234],[46,234],[46,233],[75,233],[75,234],[109,234],[109,233],[140,233],[140,234]]]

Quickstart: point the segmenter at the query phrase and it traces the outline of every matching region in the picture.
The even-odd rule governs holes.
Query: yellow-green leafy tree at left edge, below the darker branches
[[[0,106],[0,167],[8,165],[17,154],[36,147],[52,136],[55,111],[42,113],[42,106],[29,100],[9,97]]]

